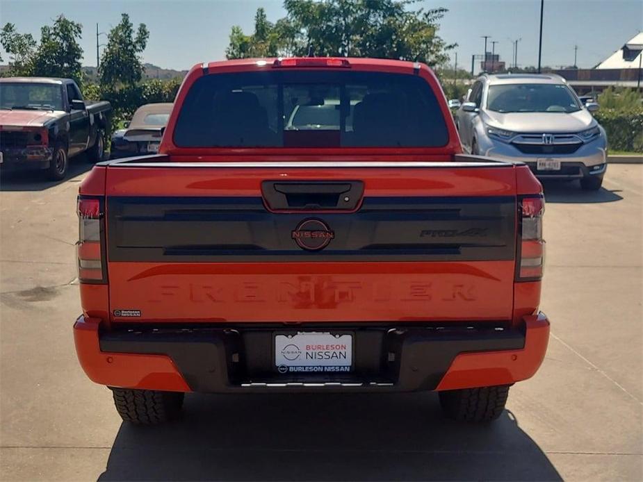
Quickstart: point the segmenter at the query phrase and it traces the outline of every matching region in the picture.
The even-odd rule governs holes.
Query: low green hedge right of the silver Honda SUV
[[[614,151],[643,152],[643,108],[617,110],[603,108],[596,120],[605,128],[608,146]]]

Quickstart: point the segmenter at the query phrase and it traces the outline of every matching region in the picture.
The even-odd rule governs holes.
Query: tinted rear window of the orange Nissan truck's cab
[[[448,131],[423,78],[377,72],[211,74],[190,88],[179,147],[441,147]]]

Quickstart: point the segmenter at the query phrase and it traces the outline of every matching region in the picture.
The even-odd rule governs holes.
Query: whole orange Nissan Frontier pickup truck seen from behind
[[[526,165],[462,155],[426,65],[196,65],[158,155],[81,185],[76,351],[130,422],[284,391],[494,419],[548,343],[543,212]]]

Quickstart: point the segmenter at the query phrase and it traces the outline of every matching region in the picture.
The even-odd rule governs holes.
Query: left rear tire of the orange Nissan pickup
[[[185,394],[183,392],[158,392],[112,388],[118,415],[133,424],[160,424],[179,415]]]

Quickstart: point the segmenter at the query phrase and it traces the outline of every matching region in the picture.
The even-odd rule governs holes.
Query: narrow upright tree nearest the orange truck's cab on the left
[[[101,84],[113,89],[135,85],[145,72],[140,53],[147,47],[147,27],[139,24],[135,33],[129,15],[123,13],[120,23],[111,29],[107,38],[107,46],[101,56]]]

